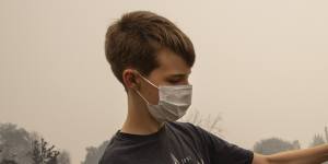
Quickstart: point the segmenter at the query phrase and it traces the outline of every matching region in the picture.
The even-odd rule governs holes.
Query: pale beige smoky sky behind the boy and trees
[[[1,0],[0,122],[71,153],[120,128],[124,89],[104,55],[107,26],[150,10],[194,42],[192,109],[220,114],[230,142],[272,136],[307,147],[328,126],[328,1]]]

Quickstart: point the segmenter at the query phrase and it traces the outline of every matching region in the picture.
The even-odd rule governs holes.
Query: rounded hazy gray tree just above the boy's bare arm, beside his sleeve
[[[294,142],[289,142],[279,138],[270,138],[261,140],[254,145],[254,152],[270,155],[289,150],[300,149],[300,142],[295,140]]]

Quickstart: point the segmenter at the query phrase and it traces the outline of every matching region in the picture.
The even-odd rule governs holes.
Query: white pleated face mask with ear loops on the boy
[[[140,74],[141,75],[141,74]],[[159,104],[150,104],[139,91],[148,106],[150,114],[159,121],[175,121],[181,118],[191,105],[192,85],[163,85],[156,86],[141,75],[148,83],[159,90]]]

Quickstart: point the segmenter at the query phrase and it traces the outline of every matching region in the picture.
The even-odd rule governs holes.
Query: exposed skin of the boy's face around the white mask
[[[189,74],[191,68],[184,61],[183,58],[175,52],[164,49],[157,55],[159,68],[154,69],[147,78],[154,85],[185,85],[189,84]],[[159,103],[159,90],[149,84],[142,78],[140,80],[139,92],[145,96],[151,104]]]

